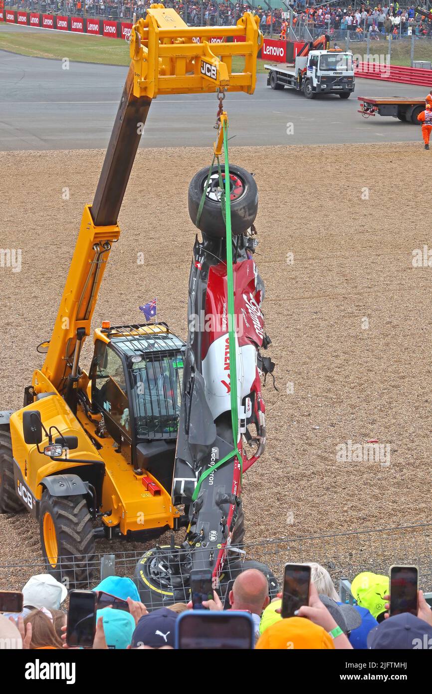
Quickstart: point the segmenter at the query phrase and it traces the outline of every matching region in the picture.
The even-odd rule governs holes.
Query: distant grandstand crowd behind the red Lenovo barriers
[[[345,0],[346,1],[346,0]],[[6,4],[8,4],[6,2]],[[13,4],[12,2],[10,3]],[[64,15],[83,15],[94,17],[112,17],[112,19],[132,19],[133,15],[145,15],[150,7],[150,0],[19,0],[19,8],[28,8],[40,12],[57,12]],[[245,10],[259,16],[261,30],[273,37],[288,37],[290,13],[287,8],[268,10],[260,5],[246,2],[207,2],[205,0],[166,0],[166,7],[175,8],[190,26],[230,26]],[[415,5],[399,6],[398,2],[368,5],[356,3],[335,6],[328,3],[316,6],[305,2],[293,5],[293,31],[309,30],[310,35],[317,31],[329,33],[340,38],[349,33],[350,38],[356,35],[363,38],[368,33],[372,38],[392,35],[397,38],[404,35],[432,36],[432,22],[416,15]]]

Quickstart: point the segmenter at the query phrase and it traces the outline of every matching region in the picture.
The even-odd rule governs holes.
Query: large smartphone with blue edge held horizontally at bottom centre
[[[254,648],[254,622],[248,612],[183,612],[175,622],[175,648],[193,650]]]

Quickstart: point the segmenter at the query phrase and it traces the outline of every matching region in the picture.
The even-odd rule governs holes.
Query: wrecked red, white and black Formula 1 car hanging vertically
[[[172,541],[170,546],[149,550],[137,564],[141,600],[147,605],[189,600],[189,574],[197,568],[211,569],[221,595],[227,580],[246,568],[259,568],[267,575],[272,597],[278,589],[266,566],[241,561],[245,536],[241,474],[266,447],[261,375],[272,373],[275,366],[261,353],[270,339],[261,310],[264,285],[253,258],[258,191],[248,171],[230,164],[239,419],[238,441],[234,441],[221,176],[225,187],[218,167],[207,167],[189,185],[189,214],[202,232],[202,241],[196,237],[189,278],[189,328],[171,495],[176,507],[184,506],[187,536],[180,546]],[[200,206],[206,185],[205,204]]]

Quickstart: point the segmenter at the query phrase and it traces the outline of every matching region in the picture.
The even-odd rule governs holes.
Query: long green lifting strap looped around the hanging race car
[[[236,333],[234,330],[234,276],[232,271],[232,230],[231,230],[231,191],[230,191],[230,164],[228,160],[228,137],[227,137],[227,124],[223,124],[223,151],[225,155],[225,194],[223,190],[222,182],[222,172],[221,166],[218,159],[218,171],[219,171],[219,185],[221,186],[221,204],[224,214],[225,228],[227,230],[227,295],[228,295],[228,344],[230,348],[230,398],[231,398],[231,423],[232,423],[232,437],[234,441],[234,450],[225,455],[221,460],[219,460],[215,465],[207,468],[196,484],[196,488],[192,494],[192,501],[196,501],[198,494],[200,493],[200,486],[206,477],[214,473],[217,468],[226,463],[232,457],[236,456],[240,463],[241,477],[243,476],[243,458],[240,455],[239,448],[237,448],[237,439],[239,437],[239,412],[237,409],[237,362],[236,362]],[[214,164],[213,163],[211,166]],[[211,169],[210,169],[211,171]],[[207,192],[207,185],[204,189],[203,198]],[[224,205],[225,203],[225,205]],[[204,201],[202,199],[202,205]],[[200,210],[198,214],[202,211],[202,205],[200,205]],[[225,210],[224,210],[225,207]],[[199,217],[198,217],[199,219]]]

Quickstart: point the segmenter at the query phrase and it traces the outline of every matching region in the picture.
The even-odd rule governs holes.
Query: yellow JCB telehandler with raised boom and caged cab
[[[217,49],[209,43],[212,33],[214,28],[188,27],[163,5],[152,5],[146,19],[133,26],[132,62],[94,202],[83,213],[53,334],[38,348],[46,352],[44,364],[24,389],[24,407],[0,413],[0,512],[26,508],[39,520],[46,566],[60,579],[67,577],[69,586],[87,580],[98,534],[149,539],[167,529],[190,526],[180,506],[190,503],[179,479],[185,476],[182,471],[175,476],[171,496],[184,404],[184,342],[165,323],[112,327],[106,321],[94,330],[88,373],[80,366],[80,353],[90,335],[112,244],[119,239],[117,216],[152,99],[159,94],[254,91],[262,44],[257,17],[245,12],[236,26],[218,27],[225,40],[216,44]],[[227,42],[234,36],[243,41]],[[236,72],[232,58],[240,55],[245,56],[245,67]],[[232,198],[241,198],[241,174],[240,179],[230,178]],[[205,177],[200,192],[204,181]],[[210,184],[206,195],[202,218],[211,220],[207,203],[221,207],[218,185]],[[212,252],[208,244],[202,249],[207,271]],[[248,260],[246,253],[242,242],[239,258]],[[252,265],[249,270],[257,277]],[[249,276],[250,287],[251,280]],[[257,311],[255,305],[253,310]],[[258,332],[261,319],[257,313],[250,318]],[[255,357],[252,361],[256,364]],[[188,379],[190,387],[190,373]],[[254,388],[259,391],[257,383]],[[213,422],[209,427],[210,434],[216,432]],[[190,448],[182,438],[184,450],[193,449],[189,443]],[[186,467],[188,455],[184,453]],[[198,472],[196,468],[188,476],[198,480]],[[197,509],[194,505],[194,527]],[[215,512],[219,518],[220,511]],[[240,513],[232,516],[224,544],[237,522],[243,527]]]

